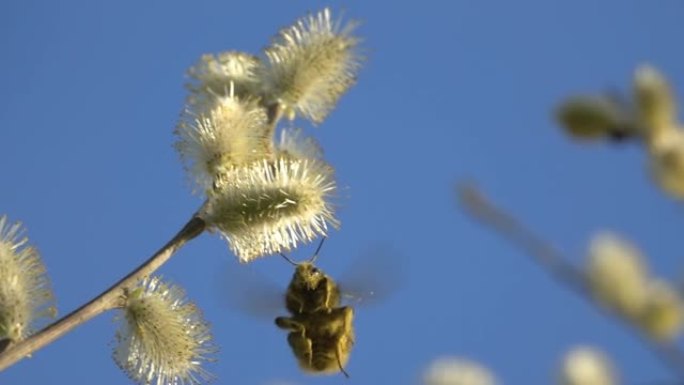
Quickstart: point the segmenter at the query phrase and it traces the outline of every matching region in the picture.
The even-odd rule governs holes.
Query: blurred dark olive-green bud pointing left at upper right
[[[624,139],[637,134],[631,109],[609,95],[575,96],[557,109],[556,118],[578,139]]]

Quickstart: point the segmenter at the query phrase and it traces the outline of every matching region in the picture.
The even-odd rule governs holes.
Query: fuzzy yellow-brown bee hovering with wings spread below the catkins
[[[405,260],[387,247],[376,247],[355,258],[338,281],[316,265],[324,240],[302,262],[281,254],[295,267],[284,291],[264,277],[250,278],[234,268],[222,273],[219,290],[229,306],[257,318],[275,318],[276,326],[288,332],[288,345],[303,371],[348,377],[356,306],[377,304],[394,294],[403,282]],[[276,318],[283,305],[288,315]]]

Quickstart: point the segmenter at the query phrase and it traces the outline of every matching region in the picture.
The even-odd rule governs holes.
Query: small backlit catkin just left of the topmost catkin
[[[231,87],[240,98],[254,98],[261,93],[258,73],[261,60],[244,52],[228,51],[218,55],[202,55],[199,62],[188,70],[192,79],[187,84],[190,105],[207,105],[211,109],[216,95],[228,95]],[[232,84],[232,85],[231,85]]]

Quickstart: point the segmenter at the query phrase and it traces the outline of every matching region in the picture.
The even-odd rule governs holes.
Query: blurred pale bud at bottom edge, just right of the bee
[[[459,357],[442,357],[423,374],[424,385],[495,385],[494,375],[482,365]]]

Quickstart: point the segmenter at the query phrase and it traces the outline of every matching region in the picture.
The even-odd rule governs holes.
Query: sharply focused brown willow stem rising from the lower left
[[[137,285],[141,279],[154,273],[186,242],[202,234],[205,228],[204,220],[198,216],[193,216],[166,245],[112,287],[36,334],[23,341],[11,344],[7,350],[0,353],[0,371],[63,336],[76,326],[107,310],[120,307],[124,290]]]

